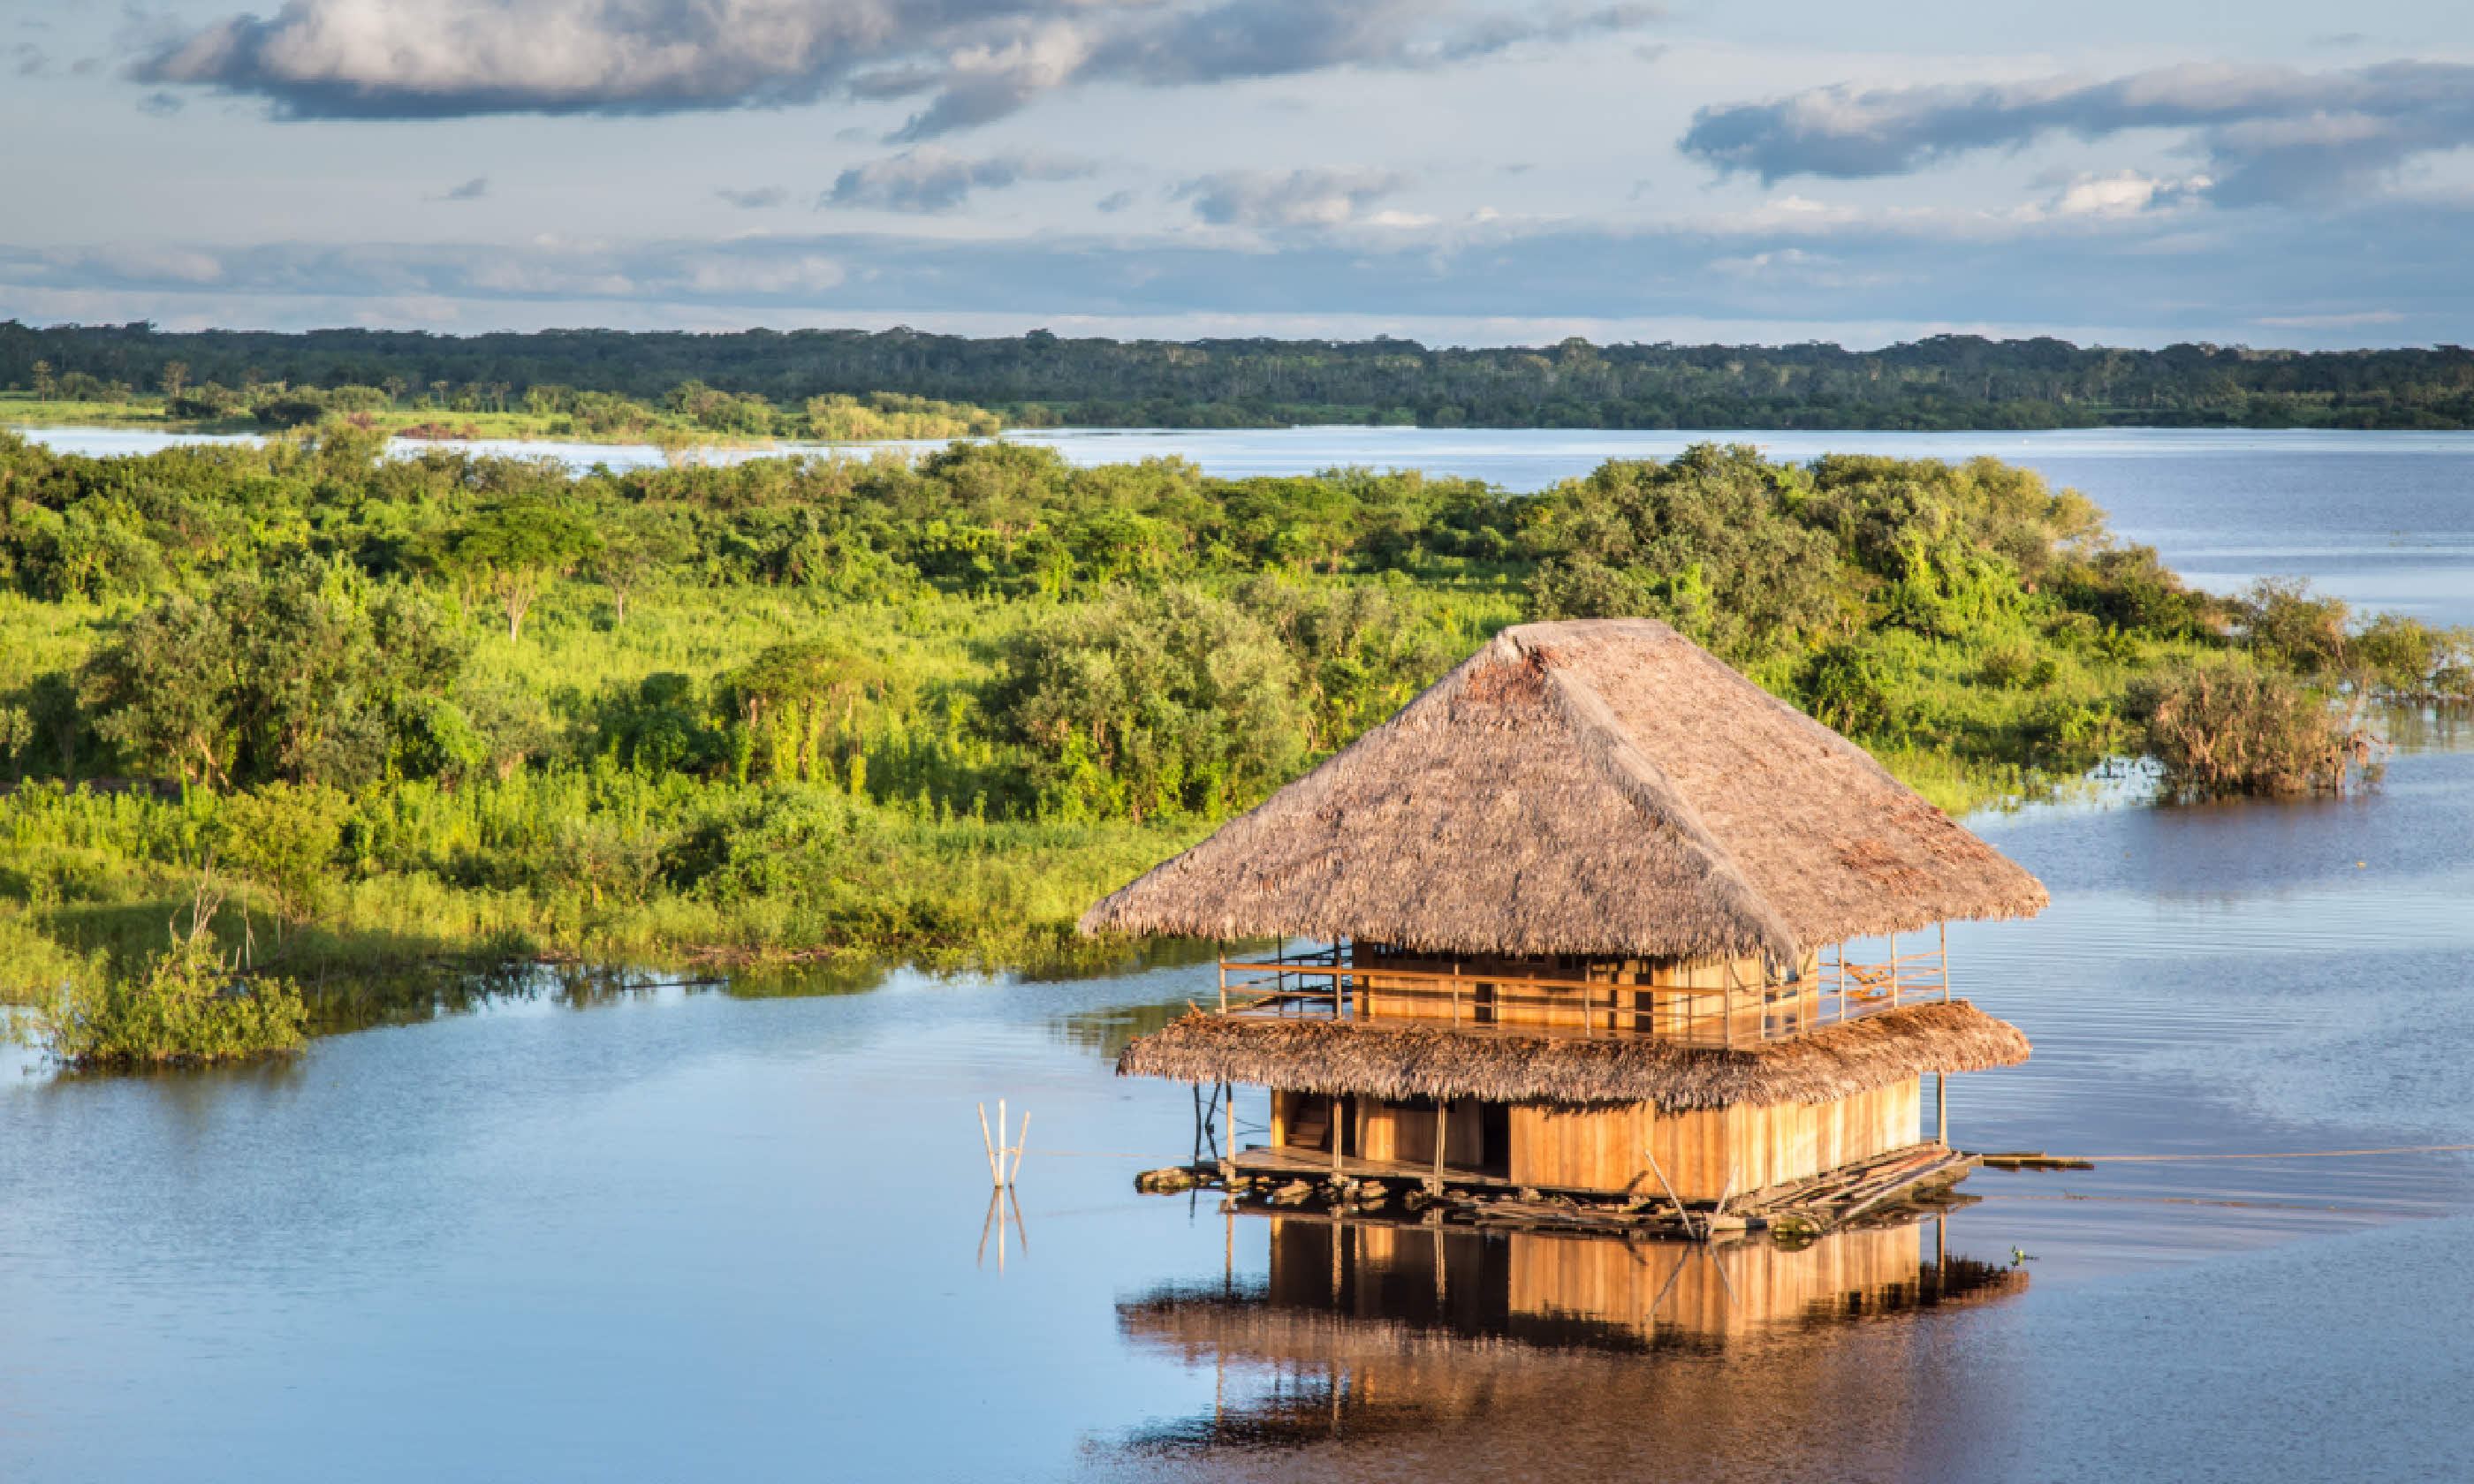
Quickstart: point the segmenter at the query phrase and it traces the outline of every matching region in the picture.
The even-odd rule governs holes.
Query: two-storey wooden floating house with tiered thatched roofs
[[[1118,1061],[1269,1088],[1239,1162],[1724,1202],[1942,1140],[1925,1073],[1940,1103],[2029,1054],[1950,997],[1942,923],[2044,903],[1846,737],[1608,618],[1502,631],[1081,927],[1282,942]]]

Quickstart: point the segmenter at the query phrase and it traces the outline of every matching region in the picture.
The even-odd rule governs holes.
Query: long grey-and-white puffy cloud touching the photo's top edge
[[[1618,2],[1526,17],[1472,0],[287,0],[272,20],[156,35],[131,77],[262,96],[292,119],[925,96],[898,131],[920,141],[1089,82],[1435,67],[1653,15]]]

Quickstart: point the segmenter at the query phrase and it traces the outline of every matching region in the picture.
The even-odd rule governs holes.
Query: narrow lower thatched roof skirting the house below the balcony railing
[[[1658,1039],[1197,1012],[1126,1046],[1116,1073],[1393,1101],[1655,1103],[1665,1113],[1687,1113],[1739,1103],[1831,1103],[1925,1071],[2011,1066],[2026,1054],[2019,1026],[1964,999],[1890,1009],[1734,1051]]]

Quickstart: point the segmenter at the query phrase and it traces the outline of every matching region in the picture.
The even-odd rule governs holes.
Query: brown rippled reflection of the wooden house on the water
[[[1133,1454],[1467,1435],[1477,1452],[1551,1417],[1564,1442],[1752,1425],[1759,1395],[1813,1410],[1846,1390],[1848,1321],[2004,1298],[2026,1271],[1942,1252],[1940,1222],[1804,1247],[1623,1242],[1272,1217],[1264,1279],[1170,1286],[1118,1306],[1123,1333],[1217,1373],[1210,1415]],[[1232,1227],[1239,1234],[1252,1222]],[[1895,1370],[1895,1368],[1893,1368]],[[1732,1380],[1729,1380],[1732,1378]],[[1893,1385],[1868,1368],[1856,1385]],[[1717,1400],[1717,1397],[1724,1400]],[[1774,1422],[1786,1412],[1771,1410]],[[1873,1407],[1880,1412],[1880,1407]],[[1729,1417],[1734,1422],[1729,1422]]]

